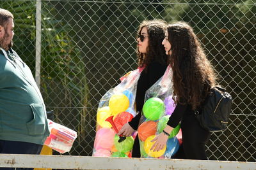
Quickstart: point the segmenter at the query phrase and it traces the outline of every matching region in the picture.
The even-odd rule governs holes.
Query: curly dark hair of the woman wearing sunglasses
[[[150,62],[157,61],[167,64],[168,55],[165,54],[164,46],[161,44],[166,31],[166,22],[163,20],[144,20],[139,27],[138,34],[141,34],[143,27],[147,27],[148,46],[146,53],[140,53],[137,48],[138,65],[147,68]]]

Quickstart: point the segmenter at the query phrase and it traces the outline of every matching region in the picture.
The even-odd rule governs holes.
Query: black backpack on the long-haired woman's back
[[[227,129],[231,105],[232,97],[225,89],[212,87],[200,111],[195,111],[195,116],[207,131],[223,131]]]

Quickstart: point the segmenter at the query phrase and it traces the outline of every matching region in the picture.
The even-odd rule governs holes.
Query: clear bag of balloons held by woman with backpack
[[[166,68],[164,75],[147,90],[145,103],[141,113],[138,137],[140,141],[141,157],[154,157],[170,159],[179,149],[182,142],[180,125],[170,133],[166,146],[158,152],[150,150],[154,142],[152,139],[163,132],[172,115],[175,104],[172,99],[172,69]]]

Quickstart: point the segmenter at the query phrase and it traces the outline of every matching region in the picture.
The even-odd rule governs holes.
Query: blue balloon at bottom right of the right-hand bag
[[[179,150],[179,140],[177,137],[168,139],[166,143],[166,151],[164,153],[164,158],[170,159]]]

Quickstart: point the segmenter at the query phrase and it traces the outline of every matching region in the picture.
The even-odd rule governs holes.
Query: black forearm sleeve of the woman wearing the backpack
[[[181,118],[183,117],[184,113],[186,112],[188,108],[188,104],[177,104],[175,110],[173,111],[172,115],[170,116],[168,122],[167,122],[167,125],[170,125],[170,127],[173,127],[175,128]]]

